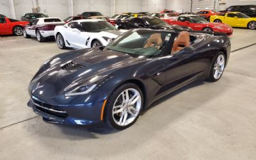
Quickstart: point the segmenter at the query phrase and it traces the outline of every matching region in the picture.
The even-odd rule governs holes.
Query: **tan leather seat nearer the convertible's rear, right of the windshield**
[[[187,31],[182,31],[173,43],[172,52],[180,51],[181,49],[184,49],[184,47],[188,47],[189,45],[189,33]]]

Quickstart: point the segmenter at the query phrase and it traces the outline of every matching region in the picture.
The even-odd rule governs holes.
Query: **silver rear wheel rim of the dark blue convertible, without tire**
[[[223,70],[225,68],[225,56],[223,54],[220,54],[214,63],[214,78],[219,79],[221,77],[221,74],[223,73]]]

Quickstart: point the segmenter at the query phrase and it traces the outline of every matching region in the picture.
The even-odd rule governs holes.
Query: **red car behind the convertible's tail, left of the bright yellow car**
[[[176,24],[179,26],[187,26],[196,31],[214,31],[226,33],[231,36],[233,28],[223,23],[211,23],[207,20],[199,17],[198,15],[179,15],[178,17],[172,17],[172,19],[163,19],[168,24]]]

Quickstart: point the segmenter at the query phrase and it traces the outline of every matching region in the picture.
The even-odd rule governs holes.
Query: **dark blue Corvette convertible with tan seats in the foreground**
[[[49,123],[126,129],[164,95],[218,81],[229,54],[223,33],[131,29],[106,47],[45,61],[29,84],[28,106]]]

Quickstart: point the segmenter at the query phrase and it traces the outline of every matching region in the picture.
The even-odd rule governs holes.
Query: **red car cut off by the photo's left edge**
[[[20,36],[23,33],[24,26],[27,24],[29,22],[0,17],[0,35]]]

